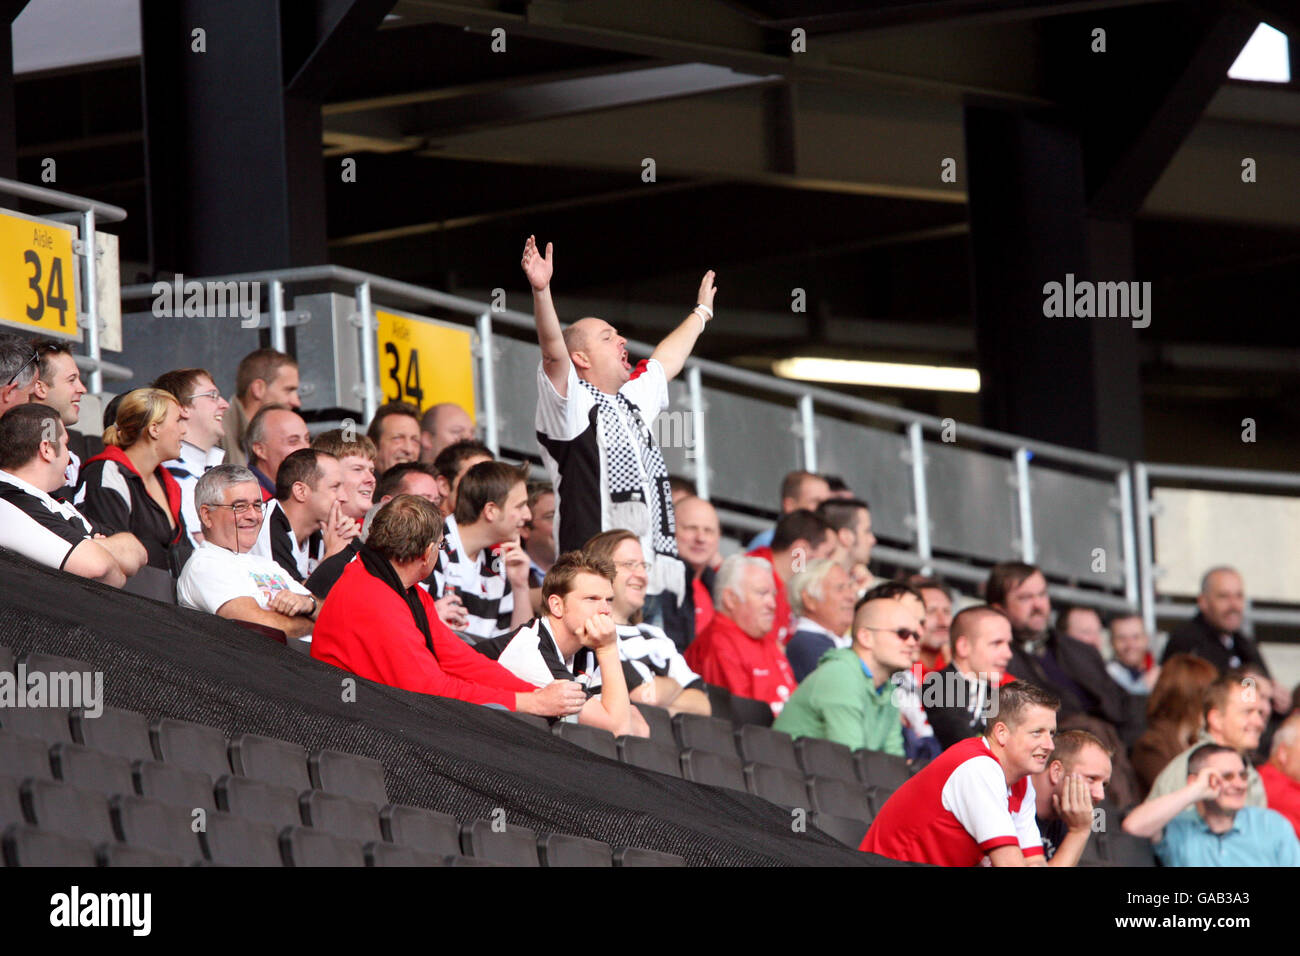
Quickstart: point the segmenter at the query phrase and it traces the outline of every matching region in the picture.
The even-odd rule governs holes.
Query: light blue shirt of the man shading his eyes
[[[1223,834],[1193,810],[1165,825],[1156,856],[1165,866],[1300,866],[1300,840],[1277,810],[1245,806]]]

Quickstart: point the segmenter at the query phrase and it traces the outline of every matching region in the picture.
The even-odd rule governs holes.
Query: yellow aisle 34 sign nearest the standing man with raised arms
[[[385,402],[410,402],[421,412],[455,402],[474,414],[473,333],[430,319],[374,310],[380,390]]]

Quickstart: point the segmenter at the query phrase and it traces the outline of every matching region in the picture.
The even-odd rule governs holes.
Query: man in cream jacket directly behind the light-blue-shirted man
[[[1188,757],[1201,744],[1218,744],[1231,747],[1245,761],[1247,805],[1268,806],[1264,780],[1247,758],[1247,754],[1258,748],[1260,735],[1269,722],[1268,697],[1273,688],[1268,684],[1268,678],[1248,676],[1239,670],[1217,676],[1205,692],[1205,730],[1191,748],[1174,757],[1160,771],[1147,800],[1180,790],[1187,782]]]

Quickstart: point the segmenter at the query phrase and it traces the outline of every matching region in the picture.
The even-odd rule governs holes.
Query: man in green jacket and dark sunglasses
[[[868,591],[853,614],[853,645],[823,654],[772,728],[902,757],[902,721],[890,678],[911,666],[924,618],[920,594],[906,584]]]

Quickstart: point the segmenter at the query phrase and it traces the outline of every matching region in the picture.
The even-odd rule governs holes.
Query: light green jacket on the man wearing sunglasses
[[[854,750],[902,757],[902,718],[893,704],[894,689],[887,680],[878,693],[853,648],[836,648],[822,654],[772,728],[792,737],[826,737]]]

